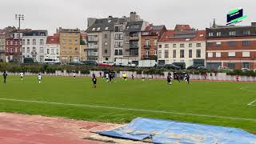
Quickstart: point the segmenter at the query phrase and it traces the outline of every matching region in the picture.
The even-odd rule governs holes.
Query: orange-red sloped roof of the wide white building
[[[205,39],[206,30],[191,30],[178,33],[175,30],[167,30],[159,42],[205,41]]]

